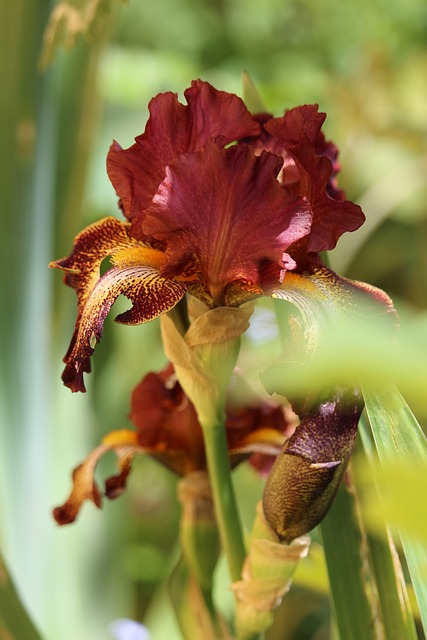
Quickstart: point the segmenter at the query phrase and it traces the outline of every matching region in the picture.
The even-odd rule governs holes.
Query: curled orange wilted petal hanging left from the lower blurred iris
[[[114,451],[117,456],[119,473],[106,481],[106,495],[112,499],[120,495],[126,485],[126,480],[131,470],[131,462],[135,455],[144,453],[144,449],[138,446],[136,433],[123,430],[113,433],[108,442],[94,449],[86,460],[73,471],[73,487],[67,501],[53,511],[58,524],[70,524],[73,522],[83,502],[90,500],[98,508],[101,507],[101,492],[95,482],[95,469],[99,460],[107,451]],[[114,489],[114,490],[113,490]]]

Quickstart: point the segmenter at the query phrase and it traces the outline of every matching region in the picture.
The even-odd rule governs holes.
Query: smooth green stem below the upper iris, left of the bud
[[[215,515],[233,581],[240,580],[245,546],[231,480],[227,439],[223,424],[202,425]]]

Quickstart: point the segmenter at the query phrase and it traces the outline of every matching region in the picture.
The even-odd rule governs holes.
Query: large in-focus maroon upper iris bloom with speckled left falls
[[[52,263],[78,297],[63,373],[72,391],[85,391],[83,374],[119,295],[133,303],[116,318],[122,324],[148,322],[186,293],[211,307],[238,306],[274,294],[297,256],[305,267],[307,256],[363,223],[335,188],[336,151],[317,107],[262,123],[206,82],[193,82],[185,97],[187,105],[172,93],[155,97],[135,144],[110,148],[107,170],[126,220],[92,224],[69,257]]]

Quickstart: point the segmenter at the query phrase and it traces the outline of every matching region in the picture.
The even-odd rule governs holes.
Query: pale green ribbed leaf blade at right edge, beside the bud
[[[405,400],[392,384],[364,389],[366,410],[381,464],[396,463],[420,473],[427,462],[427,439]],[[421,496],[418,482],[408,495]],[[419,505],[421,509],[421,504]],[[427,536],[417,539],[400,528],[424,630],[427,631]]]

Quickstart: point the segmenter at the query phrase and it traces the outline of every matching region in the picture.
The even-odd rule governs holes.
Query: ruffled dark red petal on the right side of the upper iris
[[[336,187],[337,149],[321,132],[325,118],[317,105],[305,105],[264,125],[275,148],[282,145],[295,162],[297,172],[285,160],[283,180],[288,190],[310,203],[313,224],[304,244],[312,252],[333,249],[345,231],[355,231],[365,220],[361,208],[344,200],[344,193]]]

